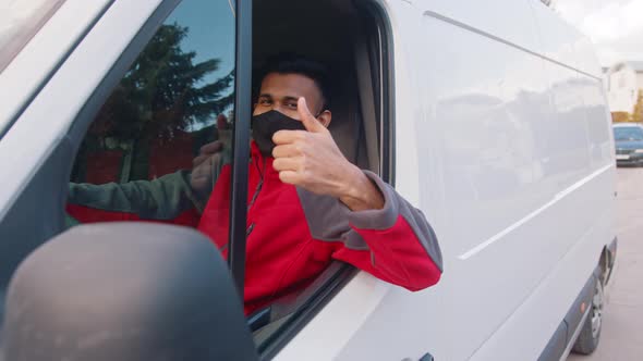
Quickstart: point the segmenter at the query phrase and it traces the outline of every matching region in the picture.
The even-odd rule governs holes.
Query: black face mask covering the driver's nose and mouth
[[[262,154],[272,155],[272,135],[279,130],[305,130],[304,124],[276,110],[252,117],[252,137]]]

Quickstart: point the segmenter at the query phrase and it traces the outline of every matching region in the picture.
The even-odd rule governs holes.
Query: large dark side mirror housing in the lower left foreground
[[[7,294],[11,361],[257,360],[214,245],[150,223],[82,225],[34,251]]]

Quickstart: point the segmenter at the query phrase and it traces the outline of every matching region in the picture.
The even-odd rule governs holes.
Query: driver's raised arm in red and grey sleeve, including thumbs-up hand
[[[411,290],[437,283],[441,253],[424,214],[350,163],[303,98],[298,111],[307,132],[277,132],[272,166],[282,182],[298,186],[313,237],[343,241],[335,259],[389,283]]]

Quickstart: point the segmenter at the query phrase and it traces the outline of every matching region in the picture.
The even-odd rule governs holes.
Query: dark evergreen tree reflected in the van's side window
[[[102,138],[96,140],[171,139],[177,130],[214,121],[230,108],[233,72],[203,84],[220,60],[195,63],[196,53],[181,49],[187,33],[178,24],[158,29],[98,113],[89,132]]]

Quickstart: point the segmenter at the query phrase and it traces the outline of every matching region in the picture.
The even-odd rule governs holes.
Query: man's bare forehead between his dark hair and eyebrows
[[[301,74],[270,73],[262,82],[260,95],[272,97],[315,97],[320,98],[322,94],[315,80]]]

